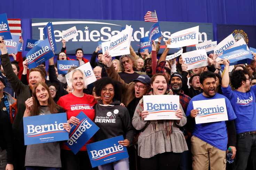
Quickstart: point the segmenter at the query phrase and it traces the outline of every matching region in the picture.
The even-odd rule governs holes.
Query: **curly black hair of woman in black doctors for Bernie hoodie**
[[[101,96],[101,90],[104,88],[107,84],[112,84],[114,87],[114,97],[113,99],[121,101],[121,94],[122,94],[122,86],[121,83],[118,81],[115,81],[109,77],[101,78],[94,82],[95,86],[95,94],[97,96]]]

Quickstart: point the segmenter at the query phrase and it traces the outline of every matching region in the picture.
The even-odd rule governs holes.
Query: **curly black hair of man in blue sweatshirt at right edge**
[[[245,70],[235,70],[231,74],[230,82],[231,82],[231,85],[235,89],[238,89],[239,87],[242,86],[242,81],[246,81],[245,74],[249,75],[249,72],[247,71],[247,69],[245,69]]]

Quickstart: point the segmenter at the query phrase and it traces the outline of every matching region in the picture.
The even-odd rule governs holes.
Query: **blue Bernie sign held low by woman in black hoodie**
[[[112,137],[86,145],[91,166],[94,168],[99,165],[128,158],[129,155],[126,147],[120,145],[118,141],[123,141],[123,136]]]

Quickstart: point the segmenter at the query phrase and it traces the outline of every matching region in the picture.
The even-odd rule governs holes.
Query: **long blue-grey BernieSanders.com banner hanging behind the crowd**
[[[134,50],[139,48],[139,39],[148,36],[150,27],[154,24],[144,21],[129,20],[81,20],[81,19],[32,19],[32,39],[45,39],[43,27],[47,22],[52,22],[54,27],[55,41],[57,43],[58,54],[62,48],[62,32],[76,26],[78,36],[66,43],[67,54],[74,54],[77,48],[83,48],[85,54],[92,54],[98,46],[98,41],[110,41],[111,36],[121,31],[122,27],[131,25],[133,27],[133,36],[131,45]],[[199,25],[199,42],[211,39],[213,41],[213,25],[211,23],[182,23],[182,22],[160,22],[160,28],[163,35],[162,41],[167,41],[172,33],[186,28]],[[163,44],[163,43],[162,43]],[[162,53],[163,45],[161,51]],[[188,51],[195,50],[195,47],[187,47]],[[178,50],[176,50],[178,51]],[[175,52],[176,52],[175,51]]]

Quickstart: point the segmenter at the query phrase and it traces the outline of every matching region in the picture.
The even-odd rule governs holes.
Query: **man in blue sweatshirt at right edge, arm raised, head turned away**
[[[222,91],[235,111],[235,127],[237,129],[237,156],[234,169],[246,169],[251,153],[254,169],[256,169],[256,86],[250,87],[247,70],[234,71],[229,78],[229,61],[223,61],[225,70],[222,77]],[[229,86],[229,79],[235,90]]]

